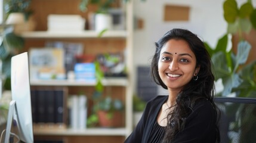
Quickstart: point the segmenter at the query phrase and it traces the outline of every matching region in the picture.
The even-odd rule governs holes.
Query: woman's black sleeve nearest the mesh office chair
[[[215,143],[215,111],[209,101],[197,104],[187,117],[184,130],[177,133],[173,143]]]

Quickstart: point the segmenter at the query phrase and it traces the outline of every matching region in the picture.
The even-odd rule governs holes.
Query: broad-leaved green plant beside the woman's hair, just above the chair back
[[[216,48],[211,48],[205,42],[205,46],[212,58],[216,80],[222,79],[224,90],[221,96],[226,97],[236,92],[238,97],[255,97],[256,91],[256,61],[244,65],[251,45],[247,41],[238,43],[238,52],[227,51],[227,35],[218,40]]]

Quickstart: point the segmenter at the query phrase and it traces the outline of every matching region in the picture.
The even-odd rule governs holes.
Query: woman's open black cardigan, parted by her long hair
[[[154,125],[156,125],[158,113],[167,99],[168,96],[158,96],[147,102],[140,122],[125,140],[125,143],[148,143],[150,139],[155,139],[158,135],[160,137],[155,142],[162,141],[162,134],[164,133],[154,133],[157,130]],[[215,143],[215,121],[215,112],[211,102],[208,100],[197,102],[192,113],[186,119],[184,129],[177,133],[172,143]]]

